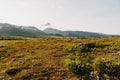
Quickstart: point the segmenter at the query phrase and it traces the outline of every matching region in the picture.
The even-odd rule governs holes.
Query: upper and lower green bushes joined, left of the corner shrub
[[[94,43],[79,43],[69,47],[67,51],[71,54],[65,60],[67,68],[79,76],[90,75],[92,66],[89,61],[90,57],[86,53],[94,47]]]

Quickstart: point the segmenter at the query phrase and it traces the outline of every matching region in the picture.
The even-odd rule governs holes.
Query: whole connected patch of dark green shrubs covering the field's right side
[[[99,44],[99,43],[78,43],[67,48],[67,51],[70,53],[69,56],[65,59],[66,67],[73,73],[84,76],[89,75],[93,77],[90,73],[93,72],[93,75],[98,76],[101,80],[104,79],[120,79],[120,53],[109,56],[108,58],[92,58],[90,52],[93,49],[101,49],[108,47],[108,44]],[[97,73],[94,73],[97,72]]]

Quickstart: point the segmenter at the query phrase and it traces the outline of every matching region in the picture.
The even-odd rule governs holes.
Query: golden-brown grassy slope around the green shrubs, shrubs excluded
[[[79,78],[64,67],[64,58],[68,55],[65,48],[81,42],[106,45],[91,52],[95,57],[106,57],[120,51],[120,37],[1,40],[0,79],[77,80]]]

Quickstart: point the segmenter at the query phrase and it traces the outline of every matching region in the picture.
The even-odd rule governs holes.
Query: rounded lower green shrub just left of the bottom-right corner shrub
[[[75,60],[66,59],[65,65],[73,73],[79,76],[85,76],[86,74],[90,74],[92,70],[91,64],[87,61],[85,58],[76,58]]]

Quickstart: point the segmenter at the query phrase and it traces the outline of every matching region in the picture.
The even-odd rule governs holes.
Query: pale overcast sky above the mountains
[[[0,23],[120,34],[120,0],[0,0]]]

